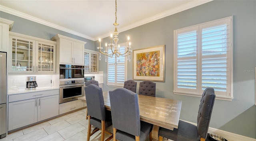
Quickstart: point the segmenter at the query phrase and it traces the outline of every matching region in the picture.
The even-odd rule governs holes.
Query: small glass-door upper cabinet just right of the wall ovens
[[[98,73],[99,52],[84,49],[84,73]]]

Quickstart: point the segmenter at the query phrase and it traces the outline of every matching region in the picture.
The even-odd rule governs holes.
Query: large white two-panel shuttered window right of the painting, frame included
[[[174,30],[174,94],[232,100],[232,16]]]

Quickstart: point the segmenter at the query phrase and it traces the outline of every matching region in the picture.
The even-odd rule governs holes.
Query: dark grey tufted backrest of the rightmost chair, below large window
[[[197,132],[204,139],[207,137],[214,101],[214,89],[206,88],[202,94],[197,117]]]

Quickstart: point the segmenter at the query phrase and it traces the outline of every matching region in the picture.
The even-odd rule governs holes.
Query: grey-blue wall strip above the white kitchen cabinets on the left
[[[86,44],[84,45],[84,48],[94,50],[95,45],[94,45],[94,41],[92,40],[79,37],[77,35],[73,35],[65,31],[61,31],[46,25],[42,25],[40,23],[32,22],[30,20],[26,20],[24,18],[20,18],[2,11],[0,11],[0,17],[14,21],[14,24],[11,30],[13,32],[30,35],[30,36],[38,37],[42,39],[47,39],[47,40],[51,40],[51,38],[54,37],[56,34],[60,34],[60,35],[64,35],[64,36],[78,39],[81,41],[85,41]]]

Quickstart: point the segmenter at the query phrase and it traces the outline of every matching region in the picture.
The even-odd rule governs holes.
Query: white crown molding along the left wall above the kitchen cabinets
[[[54,24],[54,23],[47,22],[47,21],[45,21],[45,20],[42,20],[42,19],[39,19],[39,18],[36,18],[36,17],[33,17],[33,16],[30,16],[30,15],[28,15],[28,14],[25,14],[25,13],[22,13],[22,12],[18,12],[17,10],[13,10],[13,9],[7,8],[7,7],[5,7],[5,6],[1,6],[1,5],[0,5],[0,11],[6,12],[6,13],[8,13],[8,14],[12,14],[12,15],[18,16],[18,17],[20,17],[20,18],[24,18],[24,19],[27,19],[27,20],[36,22],[36,23],[40,23],[40,24],[42,24],[42,25],[46,25],[46,26],[49,26],[49,27],[52,27],[52,28],[55,28],[55,29],[59,29],[59,30],[61,30],[61,31],[65,31],[65,32],[68,32],[68,33],[77,35],[77,36],[79,36],[79,37],[83,37],[83,38],[90,39],[90,40],[93,40],[93,41],[95,40],[93,37],[90,37],[90,36],[87,36],[87,35],[78,33],[78,32],[76,32],[76,31],[67,29],[67,28],[65,28],[65,27],[56,25],[56,24]]]

